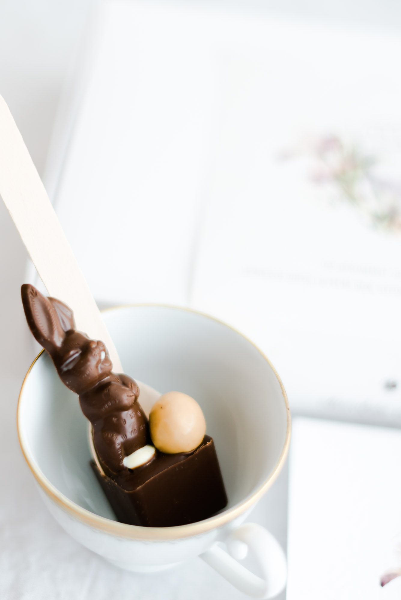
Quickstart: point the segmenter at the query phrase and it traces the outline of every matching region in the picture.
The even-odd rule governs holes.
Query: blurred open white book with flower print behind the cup
[[[400,425],[400,52],[102,5],[45,182],[99,304],[213,314],[269,356],[293,411]]]

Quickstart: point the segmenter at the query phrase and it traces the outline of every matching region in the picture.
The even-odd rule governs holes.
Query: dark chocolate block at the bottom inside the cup
[[[110,478],[92,469],[121,523],[172,527],[202,521],[227,505],[213,439],[187,454],[163,454]]]

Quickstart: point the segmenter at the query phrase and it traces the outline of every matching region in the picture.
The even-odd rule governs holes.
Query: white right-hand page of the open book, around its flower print
[[[401,42],[258,25],[233,26],[235,42],[225,32],[216,51],[223,98],[194,306],[261,347],[293,410],[321,407],[333,416],[334,400],[344,414],[374,422],[376,409],[394,422],[401,391],[384,382],[401,380],[401,237],[375,229],[310,181],[314,160],[293,148],[331,132],[379,161],[390,155],[397,178]],[[297,158],[280,160],[286,150]]]

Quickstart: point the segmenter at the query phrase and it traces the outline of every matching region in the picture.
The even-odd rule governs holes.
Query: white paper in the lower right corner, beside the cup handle
[[[287,600],[400,598],[401,433],[294,419]]]

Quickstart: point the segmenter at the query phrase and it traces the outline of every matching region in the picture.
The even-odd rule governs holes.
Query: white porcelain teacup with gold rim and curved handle
[[[291,418],[273,366],[243,335],[194,311],[132,306],[103,316],[128,374],[161,393],[178,390],[199,402],[229,503],[214,517],[179,527],[115,521],[89,467],[87,421],[78,398],[42,352],[23,382],[17,426],[50,512],[74,539],[121,568],[153,572],[200,556],[244,593],[277,595],[286,583],[283,551],[263,527],[243,524],[288,452]],[[262,578],[238,562],[248,548]]]

